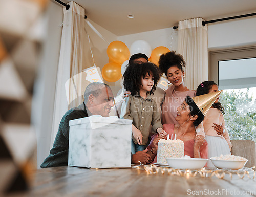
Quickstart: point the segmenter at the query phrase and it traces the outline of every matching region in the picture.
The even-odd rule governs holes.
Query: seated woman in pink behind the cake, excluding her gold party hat
[[[191,97],[187,96],[182,105],[178,107],[176,114],[178,124],[164,124],[163,129],[170,136],[176,134],[176,139],[184,142],[184,155],[188,155],[191,158],[208,158],[207,142],[203,136],[196,135],[195,129],[195,126],[198,126],[204,119],[204,115],[191,100]],[[161,137],[157,134],[153,135],[150,145],[147,147],[147,154],[152,158],[151,163],[157,162],[157,143],[160,139]]]

